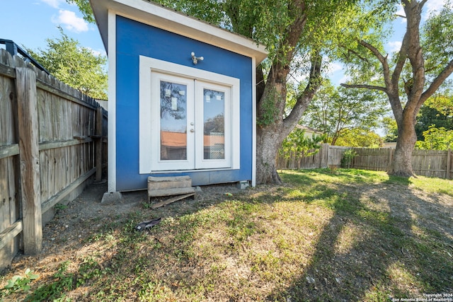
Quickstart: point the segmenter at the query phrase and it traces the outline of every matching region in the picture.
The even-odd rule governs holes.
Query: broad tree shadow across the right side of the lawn
[[[307,174],[302,174],[302,182],[309,183]],[[410,204],[426,203],[408,190],[411,181],[391,176],[383,186],[356,187],[362,181],[360,175],[364,171],[359,175],[340,171],[333,177],[345,176],[350,185],[310,187],[314,192],[324,187],[324,192],[307,193],[304,202],[322,199],[334,215],[319,236],[309,266],[301,267],[299,279],[287,289],[274,291],[269,300],[389,301],[453,291],[453,265],[446,252],[452,233],[434,232],[437,239],[430,237],[432,232],[418,221],[425,215],[420,212],[423,209],[408,208],[401,200],[404,196],[412,199]],[[286,181],[298,186],[297,175],[286,176]],[[388,208],[377,209],[373,203]]]

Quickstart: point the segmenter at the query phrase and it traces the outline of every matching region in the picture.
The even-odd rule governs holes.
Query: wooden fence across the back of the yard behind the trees
[[[347,149],[353,149],[357,156],[352,160],[351,168],[364,170],[388,171],[394,155],[394,149],[367,149],[330,146],[322,144],[321,149],[314,156],[297,158],[294,154],[279,156],[278,169],[307,169],[340,167],[341,158]],[[452,179],[452,151],[413,150],[412,167],[416,175],[434,178]]]

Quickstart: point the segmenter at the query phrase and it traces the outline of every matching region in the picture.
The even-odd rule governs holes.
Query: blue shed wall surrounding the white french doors
[[[121,16],[116,17],[116,33],[117,191],[145,189],[150,175],[190,175],[193,185],[251,180],[253,122],[251,58]],[[205,60],[193,65],[190,52],[205,57]],[[240,170],[139,174],[139,55],[240,79]]]

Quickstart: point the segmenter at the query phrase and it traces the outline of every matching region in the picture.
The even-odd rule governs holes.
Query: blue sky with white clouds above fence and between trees
[[[447,0],[428,0],[423,18],[432,11],[438,11]],[[95,24],[88,24],[82,18],[75,5],[64,0],[0,0],[2,13],[0,17],[0,38],[13,40],[17,45],[32,50],[45,49],[46,39],[59,38],[58,26],[64,29],[69,37],[78,40],[83,47],[88,47],[95,54],[106,54],[101,35]],[[403,8],[398,14],[403,15]],[[386,44],[386,51],[391,53],[401,46],[406,20],[398,18],[394,23],[395,34]],[[0,47],[4,47],[0,45]],[[331,63],[328,76],[338,85],[344,83],[342,66]]]

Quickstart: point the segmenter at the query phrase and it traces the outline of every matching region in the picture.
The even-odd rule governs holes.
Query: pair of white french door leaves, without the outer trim
[[[231,168],[231,87],[151,74],[151,170]]]

